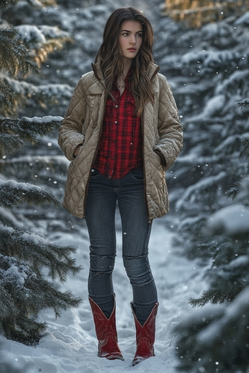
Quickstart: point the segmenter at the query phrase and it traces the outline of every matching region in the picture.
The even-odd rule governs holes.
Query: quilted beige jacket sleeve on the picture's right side
[[[154,151],[163,155],[168,170],[175,162],[176,157],[182,150],[183,129],[180,124],[175,99],[167,79],[160,74],[159,85],[159,107],[158,107],[158,133],[159,141]]]

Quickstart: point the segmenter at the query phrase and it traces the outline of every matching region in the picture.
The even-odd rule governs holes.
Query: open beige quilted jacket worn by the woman
[[[144,187],[148,221],[169,209],[165,171],[182,149],[182,126],[177,107],[166,78],[151,64],[154,103],[148,102],[142,114]],[[88,182],[95,161],[105,111],[106,91],[99,64],[84,74],[75,87],[65,118],[59,128],[59,145],[71,164],[65,186],[63,206],[73,215],[84,218]],[[76,147],[82,144],[74,158]],[[160,151],[166,161],[155,152]]]

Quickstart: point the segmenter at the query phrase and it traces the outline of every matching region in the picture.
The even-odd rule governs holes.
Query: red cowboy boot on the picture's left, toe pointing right
[[[93,311],[95,330],[97,339],[99,341],[98,356],[100,358],[106,358],[109,360],[120,359],[124,360],[122,353],[118,345],[118,335],[116,330],[116,302],[114,294],[114,309],[108,319],[98,304],[96,304],[92,298],[89,298],[89,302]]]

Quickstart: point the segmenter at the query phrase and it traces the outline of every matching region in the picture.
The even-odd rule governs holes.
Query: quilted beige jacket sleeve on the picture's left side
[[[66,115],[59,127],[58,144],[69,161],[74,160],[74,151],[78,145],[83,145],[85,137],[82,125],[86,116],[86,99],[82,90],[81,80],[75,87]]]

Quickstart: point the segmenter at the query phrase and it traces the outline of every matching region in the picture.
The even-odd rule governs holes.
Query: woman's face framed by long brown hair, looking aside
[[[142,44],[142,24],[127,20],[121,23],[119,45],[123,58],[134,58]]]

